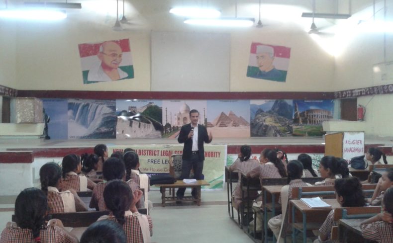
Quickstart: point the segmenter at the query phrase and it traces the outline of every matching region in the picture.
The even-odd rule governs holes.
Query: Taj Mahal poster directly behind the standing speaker
[[[199,124],[206,125],[206,100],[163,100],[162,122],[164,124],[163,138],[177,139],[180,128],[190,123],[190,110],[199,111]],[[214,137],[214,134],[213,134]]]

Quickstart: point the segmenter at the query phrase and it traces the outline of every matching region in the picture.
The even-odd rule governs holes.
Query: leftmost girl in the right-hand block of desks
[[[232,165],[229,167],[229,171],[235,171],[247,174],[254,168],[259,166],[259,162],[254,159],[250,159],[251,157],[251,147],[247,145],[243,145],[240,147],[240,153],[235,162],[232,163]],[[242,203],[242,191],[240,188],[240,176],[239,176],[239,181],[236,184],[235,189],[233,189],[232,193],[232,205],[236,210],[239,210],[239,205]]]

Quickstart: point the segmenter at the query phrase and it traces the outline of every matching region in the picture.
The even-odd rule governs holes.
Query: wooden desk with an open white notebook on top
[[[314,230],[321,226],[326,219],[327,215],[332,209],[340,208],[340,204],[336,199],[322,199],[327,204],[331,205],[331,208],[324,209],[311,209],[306,204],[300,200],[291,200],[290,209],[292,208],[292,214],[290,217],[292,219],[292,242],[296,242],[295,231],[300,231],[303,233],[303,243],[307,242],[307,230]],[[302,223],[296,223],[296,210],[301,213]],[[291,211],[290,211],[291,212]],[[310,222],[307,224],[307,220]],[[308,228],[307,228],[308,227]]]

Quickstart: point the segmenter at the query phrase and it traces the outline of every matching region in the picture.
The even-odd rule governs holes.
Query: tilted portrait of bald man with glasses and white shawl
[[[79,44],[83,83],[134,78],[129,39]]]

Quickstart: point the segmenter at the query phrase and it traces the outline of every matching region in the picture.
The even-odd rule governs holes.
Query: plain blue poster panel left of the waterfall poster
[[[42,106],[49,116],[48,136],[50,139],[67,139],[67,99],[42,99]]]

